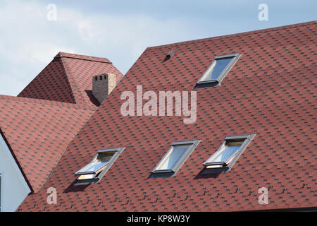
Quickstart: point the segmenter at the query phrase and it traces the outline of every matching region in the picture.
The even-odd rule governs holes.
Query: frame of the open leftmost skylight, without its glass
[[[99,182],[100,179],[104,177],[104,174],[106,174],[111,165],[113,165],[113,162],[115,162],[116,159],[119,157],[120,153],[123,152],[123,150],[125,150],[125,148],[108,148],[99,150],[97,155],[94,156],[91,162],[89,162],[87,165],[85,165],[85,167],[82,167],[80,170],[75,172],[76,175],[84,177],[83,179],[80,179],[80,177],[78,177],[77,182]],[[103,153],[113,153],[113,155],[104,166],[92,171],[85,170],[85,168],[88,168],[89,166],[97,162],[99,155]]]

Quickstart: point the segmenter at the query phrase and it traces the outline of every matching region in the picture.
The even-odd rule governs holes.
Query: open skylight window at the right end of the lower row
[[[229,136],[220,145],[220,148],[209,157],[204,166],[206,169],[227,168],[230,169],[242,152],[247,148],[254,134],[247,136]]]

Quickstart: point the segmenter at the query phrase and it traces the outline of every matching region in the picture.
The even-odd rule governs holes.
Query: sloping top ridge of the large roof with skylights
[[[301,26],[305,26],[305,25],[309,25],[309,24],[314,24],[317,23],[317,20],[311,20],[308,22],[304,22],[304,23],[295,23],[295,24],[290,24],[290,25],[282,25],[282,26],[278,26],[278,27],[273,27],[273,28],[263,28],[260,30],[250,30],[247,32],[239,32],[239,33],[235,33],[235,34],[229,34],[229,35],[219,35],[219,36],[214,36],[214,37],[204,37],[201,39],[197,39],[197,40],[189,40],[189,41],[183,41],[183,42],[174,42],[174,43],[170,43],[170,44],[161,44],[161,45],[157,45],[157,46],[153,46],[153,47],[147,47],[147,49],[160,49],[163,47],[173,47],[176,45],[183,45],[183,44],[189,44],[189,43],[197,43],[197,42],[204,42],[206,40],[218,40],[218,39],[222,39],[222,38],[228,38],[228,37],[237,37],[237,36],[242,36],[242,35],[251,35],[251,34],[258,34],[258,33],[262,33],[262,32],[268,32],[268,31],[275,31],[275,30],[285,30],[288,28],[298,28]]]

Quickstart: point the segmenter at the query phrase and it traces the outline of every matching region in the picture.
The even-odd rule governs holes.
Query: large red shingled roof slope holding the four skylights
[[[228,211],[316,207],[316,21],[149,47],[68,146],[27,211]],[[167,52],[175,54],[163,61]],[[123,117],[120,94],[192,91],[214,57],[237,52],[222,85],[198,88],[197,121]],[[256,133],[229,172],[202,176],[226,136]],[[175,177],[151,178],[174,141],[201,139]],[[127,147],[97,184],[73,186],[101,148]],[[268,188],[268,205],[258,202]],[[55,187],[58,203],[46,203]]]

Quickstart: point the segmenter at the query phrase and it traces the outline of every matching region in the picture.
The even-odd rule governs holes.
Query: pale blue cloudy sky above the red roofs
[[[316,0],[0,0],[0,94],[18,95],[58,52],[105,57],[126,73],[147,47],[308,22],[316,11]]]

